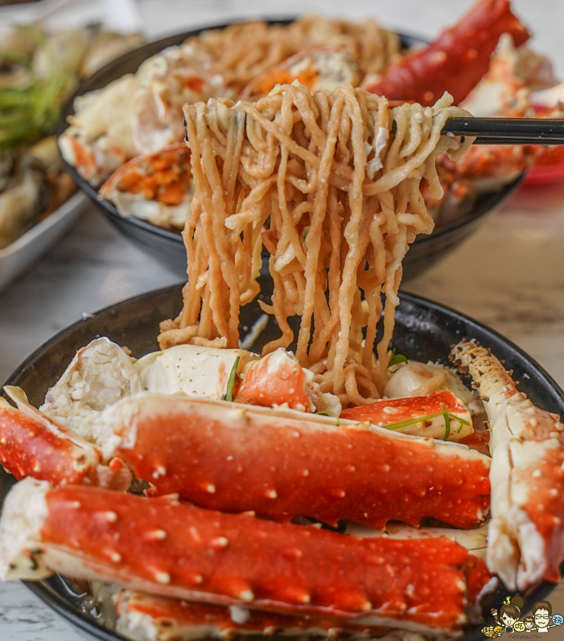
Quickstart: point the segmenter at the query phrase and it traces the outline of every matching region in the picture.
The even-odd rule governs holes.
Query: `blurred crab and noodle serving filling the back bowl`
[[[479,0],[417,51],[402,50],[398,36],[371,19],[232,24],[165,48],[137,73],[78,96],[59,145],[119,214],[182,230],[194,196],[183,141],[185,103],[253,102],[276,84],[298,80],[312,93],[349,83],[397,104],[429,106],[447,91],[475,115],[560,118],[558,80],[528,40],[508,0]],[[427,181],[422,195],[431,216],[447,224],[479,194],[501,189],[535,163],[561,160],[562,147],[539,145],[476,146],[459,163],[442,154],[442,196],[434,197]]]

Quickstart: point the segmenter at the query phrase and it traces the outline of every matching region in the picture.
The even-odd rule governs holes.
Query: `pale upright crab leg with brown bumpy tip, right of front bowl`
[[[478,386],[491,437],[487,561],[510,590],[558,581],[564,560],[564,426],[519,392],[500,361],[478,343],[453,350]]]

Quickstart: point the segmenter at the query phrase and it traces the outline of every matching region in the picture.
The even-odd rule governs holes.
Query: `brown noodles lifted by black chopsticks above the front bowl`
[[[447,118],[466,115],[450,103],[390,109],[350,85],[314,95],[283,85],[257,103],[185,105],[196,189],[184,228],[189,280],[182,313],[162,323],[162,348],[237,347],[264,246],[274,289],[271,305],[259,303],[281,335],[263,353],[287,348],[288,318],[300,316],[296,357],[321,390],[343,404],[380,397],[402,259],[433,228],[420,182],[440,197],[434,158],[471,142],[441,135]]]

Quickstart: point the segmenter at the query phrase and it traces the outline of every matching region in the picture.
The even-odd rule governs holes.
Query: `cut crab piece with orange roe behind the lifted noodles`
[[[305,85],[310,93],[333,91],[341,83],[357,87],[360,70],[350,52],[342,46],[301,51],[257,75],[244,88],[241,100],[258,100],[268,95],[275,85],[290,85],[295,80]]]

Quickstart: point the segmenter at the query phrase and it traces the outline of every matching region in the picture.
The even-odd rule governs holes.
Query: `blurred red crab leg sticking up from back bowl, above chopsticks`
[[[432,105],[448,91],[456,105],[488,71],[502,33],[511,34],[515,46],[529,38],[511,13],[508,0],[481,0],[434,43],[393,63],[365,89],[389,100],[413,100],[422,105]]]

